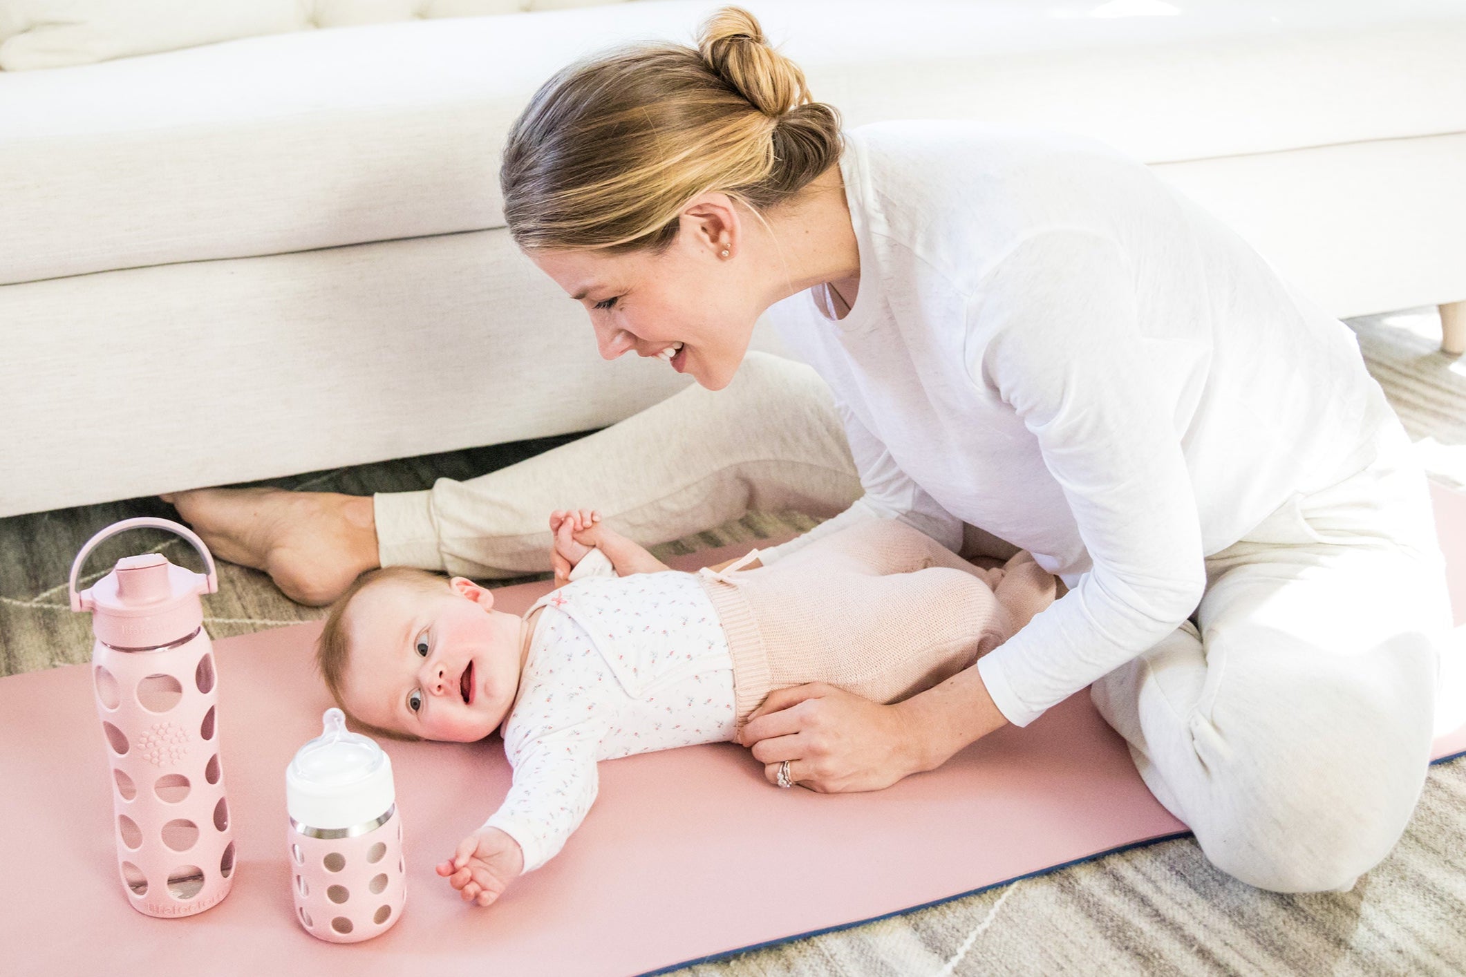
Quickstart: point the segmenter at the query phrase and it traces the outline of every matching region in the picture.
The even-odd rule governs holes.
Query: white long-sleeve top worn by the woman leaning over
[[[833,388],[865,498],[764,558],[871,517],[1029,549],[1070,592],[978,662],[1010,722],[1155,644],[1205,555],[1371,460],[1391,412],[1353,334],[1142,164],[968,122],[846,139],[855,305],[767,315]]]

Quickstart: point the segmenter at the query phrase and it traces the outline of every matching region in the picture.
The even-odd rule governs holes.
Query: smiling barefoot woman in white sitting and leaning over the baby
[[[1006,540],[1069,593],[905,702],[771,696],[743,737],[770,781],[881,788],[1092,684],[1239,879],[1349,889],[1393,847],[1448,623],[1423,475],[1346,327],[1230,230],[1089,141],[841,132],[737,7],[695,51],[561,70],[500,179],[516,243],[603,356],[661,356],[705,390],[431,492],[179,497],[220,555],[328,599],[378,560],[542,568],[529,527],[569,504],[641,542],[749,504],[843,508],[764,560],[868,519]],[[745,356],[765,311],[819,379]]]

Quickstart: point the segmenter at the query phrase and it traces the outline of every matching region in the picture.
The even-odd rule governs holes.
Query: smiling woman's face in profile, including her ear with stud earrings
[[[668,369],[723,390],[743,362],[758,316],[792,293],[770,289],[778,278],[761,270],[758,237],[749,233],[758,221],[729,196],[696,198],[680,221],[661,255],[526,253],[585,306],[601,356],[658,356],[680,343]]]

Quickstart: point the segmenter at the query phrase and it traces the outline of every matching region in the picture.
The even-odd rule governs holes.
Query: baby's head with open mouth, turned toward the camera
[[[409,567],[364,573],[325,617],[317,665],[372,734],[471,743],[509,715],[525,621],[466,577]]]

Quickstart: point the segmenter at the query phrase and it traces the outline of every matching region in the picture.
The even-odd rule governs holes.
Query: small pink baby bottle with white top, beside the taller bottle
[[[290,891],[311,936],[356,943],[402,915],[402,817],[383,748],[350,732],[340,709],[321,725],[284,772]]]

